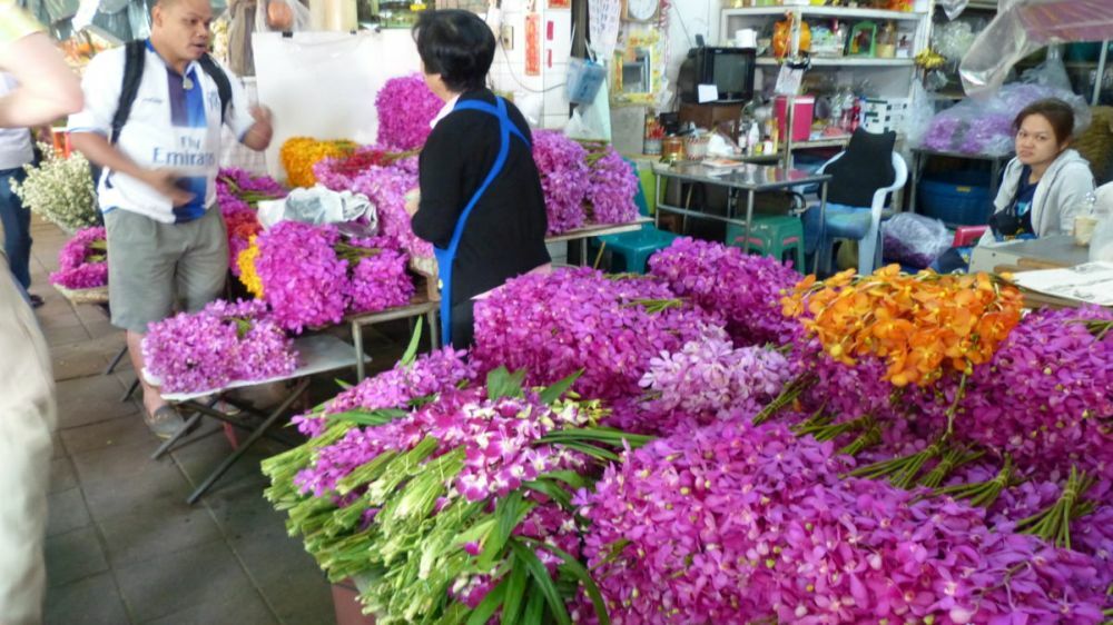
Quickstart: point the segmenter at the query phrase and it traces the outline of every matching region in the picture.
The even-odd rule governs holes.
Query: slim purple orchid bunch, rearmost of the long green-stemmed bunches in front
[[[475,379],[475,368],[465,360],[466,351],[444,347],[423,354],[411,364],[400,363],[341,393],[317,409],[294,417],[302,434],[324,433],[329,415],[351,410],[401,409],[410,401],[455,388]]]

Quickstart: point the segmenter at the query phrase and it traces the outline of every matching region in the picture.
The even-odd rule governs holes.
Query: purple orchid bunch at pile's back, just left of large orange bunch
[[[682,237],[650,257],[649,267],[678,296],[720,311],[738,345],[787,345],[800,333],[780,307],[800,275],[774,258]]]

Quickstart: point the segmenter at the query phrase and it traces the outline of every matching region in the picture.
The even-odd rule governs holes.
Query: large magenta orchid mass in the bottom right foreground
[[[1102,621],[1091,558],[989,530],[965,505],[841,479],[833,452],[735,421],[628,453],[577,498],[612,622]]]

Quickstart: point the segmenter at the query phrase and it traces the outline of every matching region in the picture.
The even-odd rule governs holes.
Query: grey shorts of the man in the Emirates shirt
[[[228,238],[220,209],[162,224],[124,209],[105,214],[112,325],[146,334],[175,310],[196,312],[224,291]]]

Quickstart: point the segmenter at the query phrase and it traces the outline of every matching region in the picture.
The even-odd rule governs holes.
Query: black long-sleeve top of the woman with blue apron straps
[[[494,105],[486,90],[470,91],[460,101]],[[521,111],[506,102],[510,120],[532,136]],[[499,120],[482,111],[450,113],[430,133],[418,160],[421,202],[413,231],[440,248],[447,248],[464,207],[491,171],[499,156]],[[502,171],[472,209],[453,264],[452,305],[503,285],[550,261],[545,248],[545,198],[529,146],[510,136],[510,152]]]

